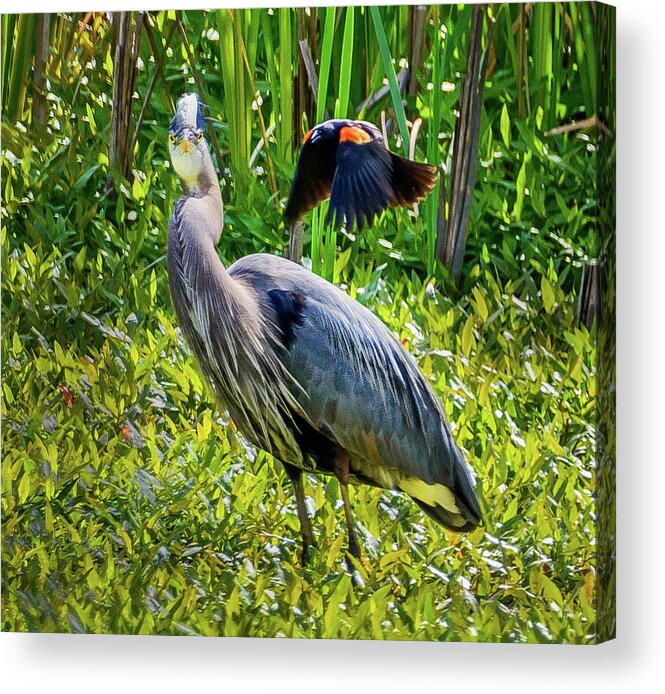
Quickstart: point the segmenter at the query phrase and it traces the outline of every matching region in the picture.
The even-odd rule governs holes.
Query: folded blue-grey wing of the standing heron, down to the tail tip
[[[297,295],[295,310],[285,363],[312,426],[349,452],[361,479],[404,490],[446,527],[475,527],[469,469],[413,358],[337,290],[332,299]]]

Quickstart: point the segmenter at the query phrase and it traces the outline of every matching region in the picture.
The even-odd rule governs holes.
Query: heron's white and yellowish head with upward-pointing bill
[[[178,100],[169,126],[169,153],[176,173],[189,188],[196,187],[208,153],[201,102],[196,94],[184,94]]]

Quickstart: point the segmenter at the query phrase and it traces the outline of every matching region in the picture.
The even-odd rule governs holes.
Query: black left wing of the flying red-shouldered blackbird
[[[300,150],[284,219],[291,225],[330,197],[335,175],[335,143],[329,139],[308,138]]]

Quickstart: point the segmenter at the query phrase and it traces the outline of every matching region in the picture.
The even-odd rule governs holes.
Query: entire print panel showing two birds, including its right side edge
[[[3,630],[613,637],[613,8],[2,33]]]

